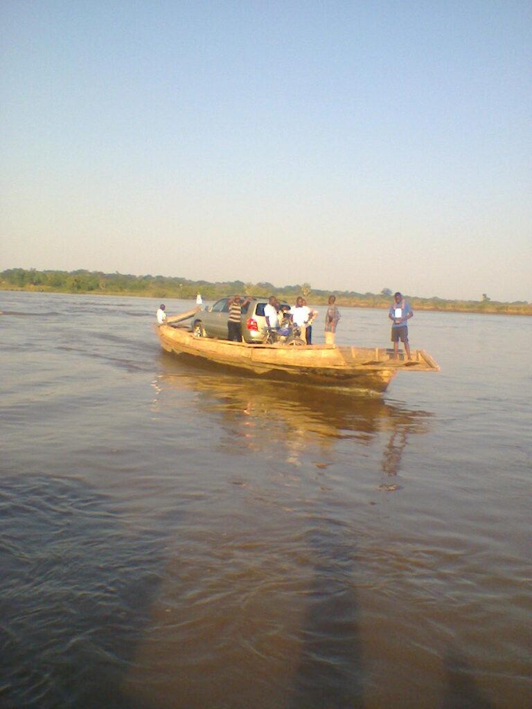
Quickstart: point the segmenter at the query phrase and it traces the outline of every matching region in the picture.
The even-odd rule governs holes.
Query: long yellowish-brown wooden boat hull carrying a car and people
[[[438,372],[440,369],[423,350],[415,350],[408,360],[394,359],[391,350],[381,347],[249,345],[195,337],[182,327],[183,321],[193,313],[195,311],[172,316],[164,325],[155,325],[167,352],[188,354],[253,374],[289,377],[301,384],[336,384],[369,391],[384,391],[397,372]]]

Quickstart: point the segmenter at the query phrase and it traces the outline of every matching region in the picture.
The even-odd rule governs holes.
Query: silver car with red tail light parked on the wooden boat
[[[227,321],[229,319],[230,298],[220,298],[213,306],[198,311],[192,318],[192,332],[196,337],[218,337],[228,340]],[[242,337],[245,342],[264,342],[266,337],[266,318],[264,308],[267,298],[251,298],[242,308]],[[280,303],[287,306],[287,303]]]

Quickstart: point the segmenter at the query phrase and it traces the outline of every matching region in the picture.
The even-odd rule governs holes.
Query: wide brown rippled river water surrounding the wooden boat
[[[157,305],[0,294],[0,707],[531,706],[532,319],[416,313],[442,371],[364,398],[162,352]]]

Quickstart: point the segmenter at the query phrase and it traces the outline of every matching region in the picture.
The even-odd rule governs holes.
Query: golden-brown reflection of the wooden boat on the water
[[[401,457],[412,434],[428,430],[432,416],[409,410],[380,396],[356,396],[345,389],[213,373],[204,367],[175,365],[162,355],[162,372],[153,382],[153,405],[160,406],[165,393],[187,389],[198,395],[199,409],[218,414],[226,436],[221,451],[245,454],[275,445],[286,462],[298,465],[301,454],[317,445],[326,467],[340,440],[369,445],[377,436],[387,437],[382,451],[382,472],[397,475]]]

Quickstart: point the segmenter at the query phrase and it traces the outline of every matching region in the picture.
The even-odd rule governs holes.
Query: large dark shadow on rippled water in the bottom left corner
[[[85,484],[0,484],[1,709],[120,707],[160,584],[160,535],[127,532]]]

